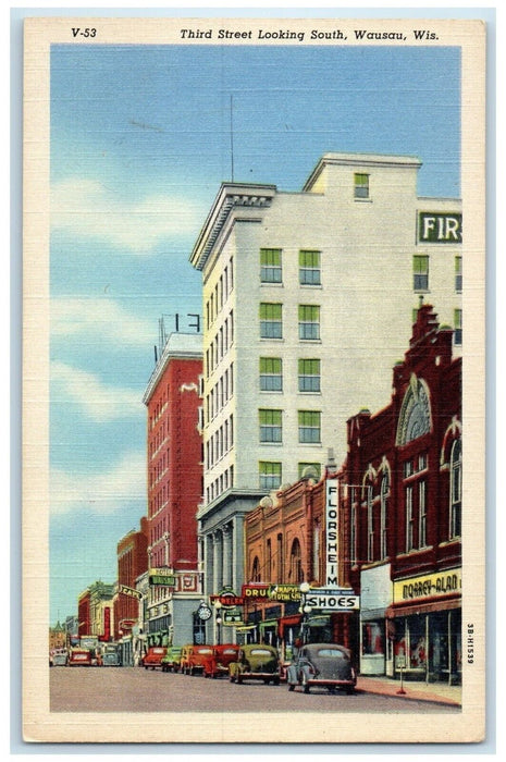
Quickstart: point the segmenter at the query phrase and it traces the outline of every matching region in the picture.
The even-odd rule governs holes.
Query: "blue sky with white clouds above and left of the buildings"
[[[457,48],[51,48],[52,624],[147,513],[159,320],[201,314],[189,255],[232,165],[300,190],[325,152],[406,153],[420,196],[459,196],[459,72]]]

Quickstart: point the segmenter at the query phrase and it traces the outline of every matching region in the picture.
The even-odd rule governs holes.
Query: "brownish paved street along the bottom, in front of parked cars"
[[[458,706],[374,696],[346,696],[311,688],[226,678],[206,679],[141,667],[53,667],[50,673],[51,712],[395,712],[459,713]]]

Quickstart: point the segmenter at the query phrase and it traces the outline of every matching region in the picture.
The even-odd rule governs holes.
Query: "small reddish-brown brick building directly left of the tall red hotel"
[[[148,568],[148,519],[143,516],[140,530],[132,530],[118,543],[118,592],[114,598],[114,640],[132,631],[139,618],[139,601],[129,591]]]

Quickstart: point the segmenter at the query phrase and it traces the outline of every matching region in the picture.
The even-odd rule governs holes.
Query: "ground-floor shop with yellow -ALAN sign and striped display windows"
[[[395,676],[461,683],[460,568],[395,581],[386,616]]]

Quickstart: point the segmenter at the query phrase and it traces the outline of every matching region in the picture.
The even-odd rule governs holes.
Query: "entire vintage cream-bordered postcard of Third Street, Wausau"
[[[26,742],[483,741],[485,37],[25,19]]]

